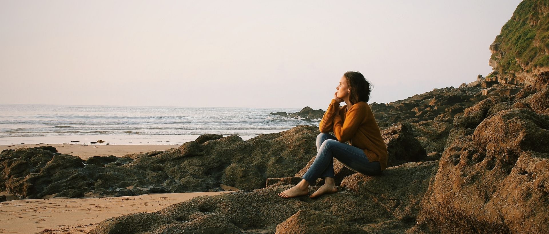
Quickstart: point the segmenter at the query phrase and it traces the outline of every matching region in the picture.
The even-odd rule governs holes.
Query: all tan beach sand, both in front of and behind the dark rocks
[[[167,150],[178,145],[81,145],[17,144],[1,145],[0,150],[21,147],[54,146],[60,153],[87,159],[91,156],[124,156]],[[234,188],[232,188],[234,189]],[[0,203],[0,233],[86,233],[104,219],[154,212],[171,204],[197,196],[225,192],[154,193],[141,196],[104,198],[16,199],[5,192],[7,202]]]

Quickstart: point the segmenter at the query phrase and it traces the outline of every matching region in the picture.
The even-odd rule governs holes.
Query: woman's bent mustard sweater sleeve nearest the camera
[[[345,115],[345,123],[341,116],[334,118],[334,134],[339,142],[346,142],[355,135],[358,126],[366,118],[366,110],[358,105],[353,105]]]

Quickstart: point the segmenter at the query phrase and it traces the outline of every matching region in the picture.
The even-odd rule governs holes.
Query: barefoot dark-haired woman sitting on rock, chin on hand
[[[324,185],[312,193],[311,198],[337,192],[333,158],[337,158],[345,167],[365,175],[376,175],[385,170],[387,147],[376,118],[366,103],[370,96],[370,84],[360,72],[348,71],[335,89],[337,92],[334,99],[320,121],[321,134],[316,138],[318,153],[315,161],[298,185],[278,193],[278,196],[290,198],[307,195],[307,187],[315,184],[319,177],[324,178]],[[339,102],[342,101],[346,105],[340,108]],[[335,136],[329,132],[334,132]]]

